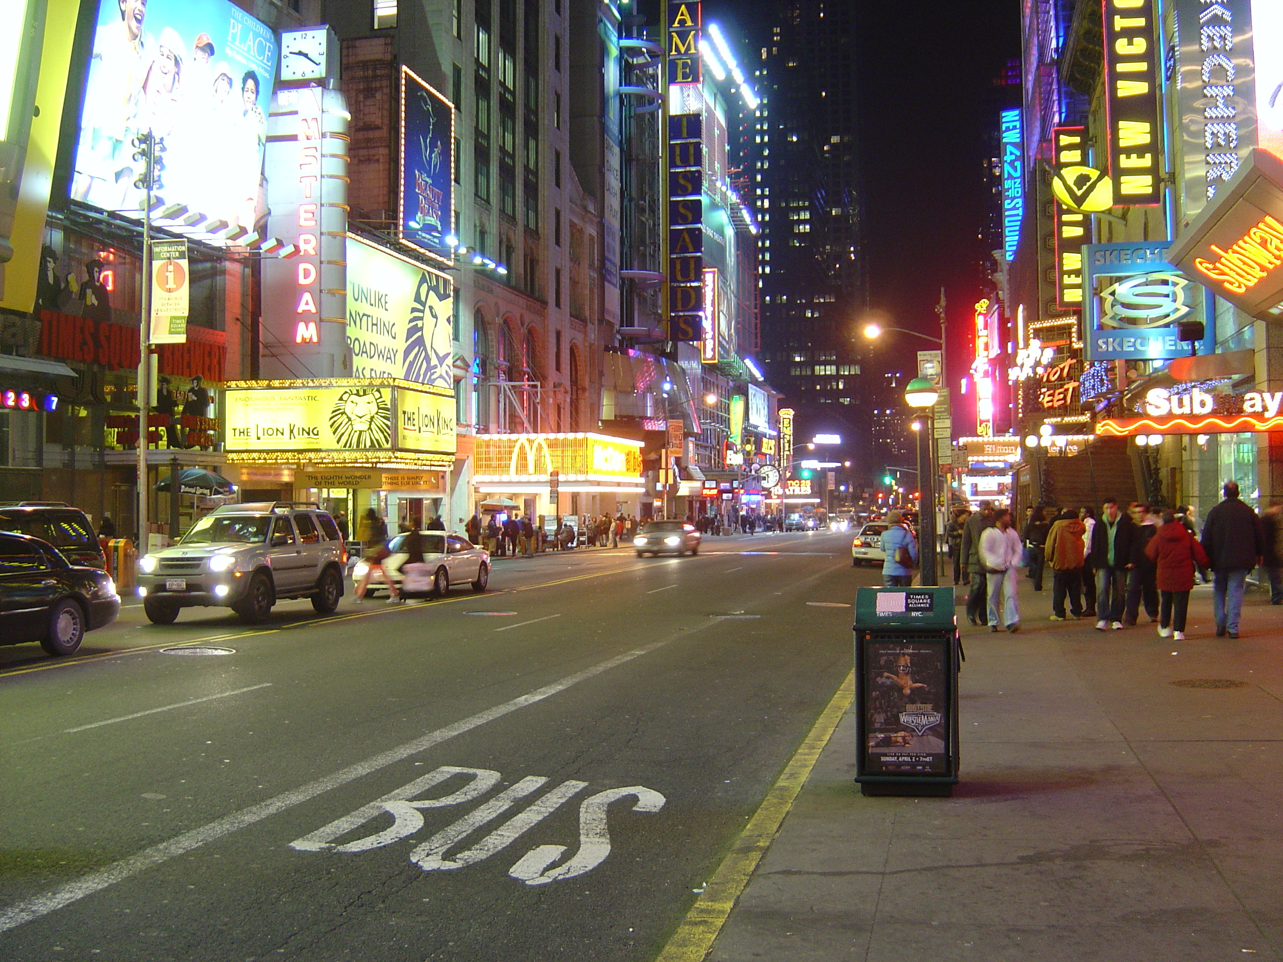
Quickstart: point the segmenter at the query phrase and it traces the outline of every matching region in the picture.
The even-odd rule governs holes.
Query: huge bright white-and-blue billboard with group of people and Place
[[[266,213],[260,180],[276,62],[272,30],[228,0],[104,0],[72,198],[140,217],[142,165],[132,141],[150,130],[162,141],[154,219],[181,222],[214,242],[251,232]]]

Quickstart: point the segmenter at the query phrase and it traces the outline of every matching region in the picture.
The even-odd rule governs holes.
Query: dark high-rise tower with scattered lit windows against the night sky
[[[762,105],[744,177],[762,217],[762,359],[803,426],[867,437],[853,326],[866,303],[857,154],[854,4],[770,8],[756,71]]]

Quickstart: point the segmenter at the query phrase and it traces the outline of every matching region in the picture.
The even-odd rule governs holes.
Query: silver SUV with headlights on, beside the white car
[[[278,598],[310,598],[330,614],[343,598],[345,562],[339,526],[316,504],[225,504],[178,544],[139,559],[139,594],[157,625],[195,605],[227,607],[257,625]]]

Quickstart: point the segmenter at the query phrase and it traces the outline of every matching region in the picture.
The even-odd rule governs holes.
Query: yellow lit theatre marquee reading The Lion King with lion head
[[[455,450],[454,395],[396,378],[232,381],[223,409],[230,462],[431,464]]]

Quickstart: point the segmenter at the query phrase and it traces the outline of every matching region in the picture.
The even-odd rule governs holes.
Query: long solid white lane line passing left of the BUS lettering
[[[59,908],[64,908],[87,895],[101,891],[115,882],[124,881],[126,879],[151,868],[153,866],[168,862],[171,858],[177,858],[178,856],[200,848],[210,841],[217,841],[226,835],[231,835],[235,831],[255,825],[264,818],[269,818],[273,814],[280,814],[286,809],[294,808],[294,806],[310,802],[317,795],[322,795],[331,789],[340,788],[341,785],[362,779],[366,775],[377,772],[380,768],[386,768],[389,764],[400,762],[411,755],[418,754],[420,752],[426,752],[448,739],[472,731],[472,729],[480,727],[486,722],[494,721],[495,718],[502,718],[518,708],[525,708],[535,704],[536,702],[541,702],[545,698],[552,698],[557,693],[565,691],[572,685],[577,685],[580,681],[586,681],[588,679],[600,675],[604,671],[609,671],[611,668],[624,664],[625,662],[630,662],[639,655],[653,652],[663,644],[666,643],[661,641],[653,645],[647,645],[644,648],[638,648],[633,652],[616,655],[615,658],[609,658],[604,662],[599,662],[590,668],[585,668],[575,675],[567,675],[559,681],[535,689],[530,694],[513,698],[511,702],[504,702],[503,704],[488,708],[484,712],[477,712],[476,714],[463,718],[462,721],[457,721],[453,725],[446,725],[444,729],[430,731],[413,741],[407,741],[404,745],[398,745],[396,748],[381,752],[377,755],[372,755],[363,762],[350,764],[332,775],[327,775],[323,779],[317,779],[307,785],[300,785],[299,788],[285,791],[275,798],[259,802],[257,806],[250,806],[249,808],[242,808],[239,812],[225,814],[222,818],[216,818],[208,825],[192,829],[182,835],[176,835],[174,838],[144,849],[135,856],[122,858],[119,862],[113,862],[105,868],[81,876],[76,881],[59,885],[56,889],[46,891],[42,895],[36,895],[35,898],[24,899],[17,904],[9,906],[8,908],[0,911],[0,932],[17,929],[23,922],[41,918],[50,912],[56,912]]]

